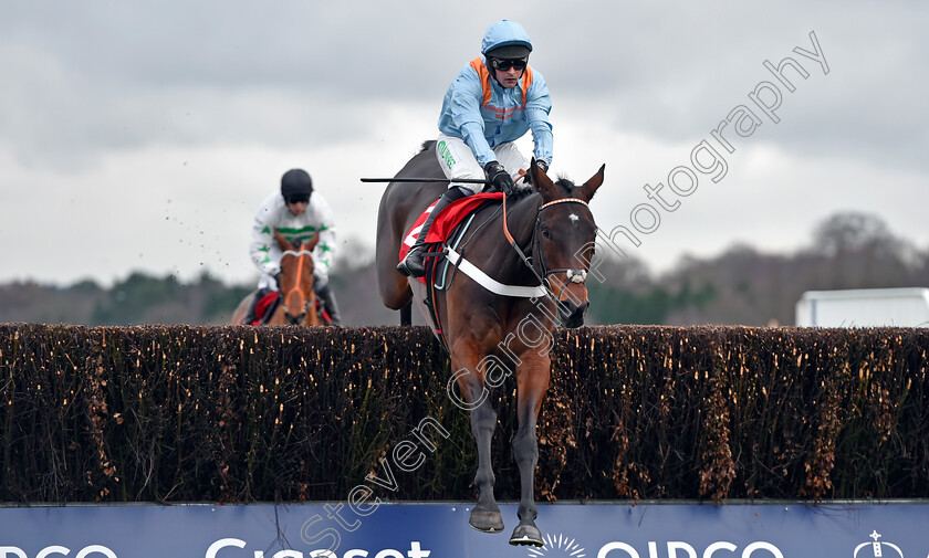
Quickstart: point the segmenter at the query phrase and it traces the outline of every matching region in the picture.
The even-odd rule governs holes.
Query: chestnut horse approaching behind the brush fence
[[[282,298],[274,314],[265,320],[267,325],[319,326],[316,294],[313,291],[313,249],[320,241],[320,233],[300,245],[291,243],[280,232],[274,232],[274,240],[283,253],[280,285]],[[232,324],[241,324],[246,319],[251,299],[257,295],[254,291],[239,303],[232,314]]]

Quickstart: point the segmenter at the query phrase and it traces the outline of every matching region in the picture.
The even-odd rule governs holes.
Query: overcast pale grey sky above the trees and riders
[[[30,0],[0,7],[0,282],[250,283],[254,211],[294,167],[340,256],[369,252],[384,187],[358,178],[436,136],[503,18],[552,92],[552,172],[605,162],[597,224],[638,228],[627,252],[653,271],[735,242],[792,251],[838,211],[929,246],[926,2]],[[807,74],[783,69],[793,92],[764,65],[785,57]],[[724,175],[696,168],[702,141]]]

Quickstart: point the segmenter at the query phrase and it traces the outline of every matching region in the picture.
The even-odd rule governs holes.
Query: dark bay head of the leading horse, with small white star
[[[587,271],[594,256],[597,227],[587,202],[603,185],[602,166],[580,187],[566,179],[552,180],[532,161],[532,186],[542,194],[535,220],[534,259],[546,286],[556,298],[559,316],[565,327],[584,324],[591,305],[587,299]]]

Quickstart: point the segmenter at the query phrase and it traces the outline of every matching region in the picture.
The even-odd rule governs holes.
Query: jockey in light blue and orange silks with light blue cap
[[[479,185],[456,183],[456,179],[487,178],[500,191],[512,192],[514,180],[529,169],[529,161],[513,141],[530,129],[539,168],[543,172],[549,169],[552,99],[542,74],[529,66],[530,52],[532,43],[522,25],[498,21],[484,33],[481,56],[469,62],[446,92],[436,155],[450,182],[416,243],[397,265],[404,275],[426,274],[422,246],[435,215],[477,191]]]

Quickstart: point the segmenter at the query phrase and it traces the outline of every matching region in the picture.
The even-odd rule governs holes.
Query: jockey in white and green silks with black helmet
[[[283,254],[274,240],[275,232],[298,244],[320,233],[320,241],[313,249],[313,291],[325,304],[332,323],[338,325],[338,306],[328,286],[328,272],[335,262],[335,217],[326,200],[313,191],[313,180],[302,169],[284,172],[280,193],[265,199],[254,215],[249,255],[261,272],[261,278],[249,317],[253,317],[254,303],[262,294],[280,288],[278,276]]]

